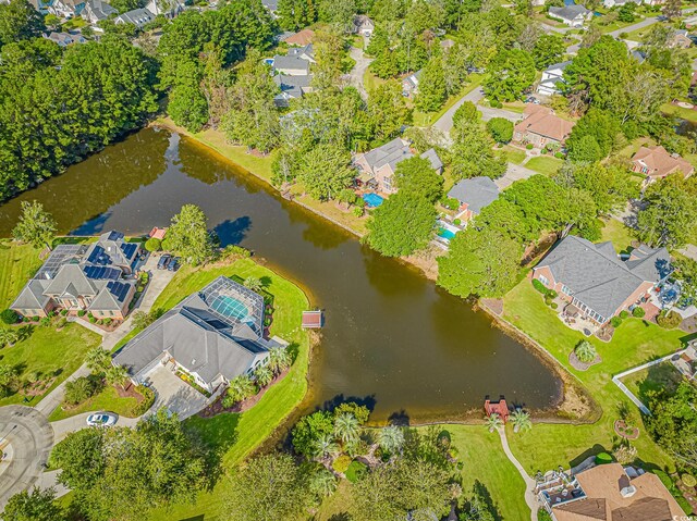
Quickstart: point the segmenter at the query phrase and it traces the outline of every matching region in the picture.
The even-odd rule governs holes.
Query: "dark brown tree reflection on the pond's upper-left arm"
[[[169,133],[146,128],[74,164],[59,176],[0,207],[0,234],[14,226],[22,201],[44,203],[68,233],[95,219],[164,172]]]

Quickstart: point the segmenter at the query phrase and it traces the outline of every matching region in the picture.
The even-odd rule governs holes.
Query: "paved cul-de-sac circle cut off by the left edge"
[[[30,407],[0,408],[0,444],[11,452],[0,463],[0,510],[8,499],[36,483],[53,445],[46,417]],[[4,448],[7,447],[7,448]]]

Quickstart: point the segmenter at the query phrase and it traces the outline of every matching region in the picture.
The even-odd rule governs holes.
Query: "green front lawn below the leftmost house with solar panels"
[[[39,402],[48,392],[73,374],[83,363],[89,349],[101,343],[101,337],[91,331],[77,325],[68,324],[56,331],[53,325],[44,327],[32,325],[32,335],[26,340],[12,347],[0,349],[0,363],[13,365],[20,380],[29,373],[38,372],[40,380],[54,376],[53,383],[40,396],[32,398],[29,405]],[[0,399],[0,406],[21,404],[21,393]]]

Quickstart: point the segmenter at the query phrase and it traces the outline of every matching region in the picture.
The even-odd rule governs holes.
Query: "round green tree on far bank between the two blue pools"
[[[398,191],[374,211],[366,240],[384,256],[408,256],[426,247],[435,222],[436,209],[425,197]]]

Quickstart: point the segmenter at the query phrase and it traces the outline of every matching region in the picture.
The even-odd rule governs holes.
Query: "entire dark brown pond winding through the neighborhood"
[[[9,201],[0,236],[32,199],[74,234],[142,234],[200,206],[223,244],[253,249],[326,309],[313,404],[370,397],[375,419],[427,420],[462,415],[488,394],[530,408],[560,397],[555,375],[484,313],[179,135],[142,131]]]

